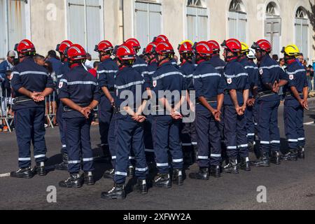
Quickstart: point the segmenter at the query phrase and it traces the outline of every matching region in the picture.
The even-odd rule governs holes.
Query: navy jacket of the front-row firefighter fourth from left
[[[159,96],[159,91],[179,91],[179,94],[182,93],[183,90],[186,91],[186,82],[183,77],[183,73],[176,69],[175,66],[171,64],[171,62],[166,62],[158,67],[153,75],[153,92],[155,92],[156,97]],[[172,102],[169,104],[174,104],[175,102],[179,102],[180,99],[174,99],[172,97]],[[158,103],[158,100],[157,100]]]

